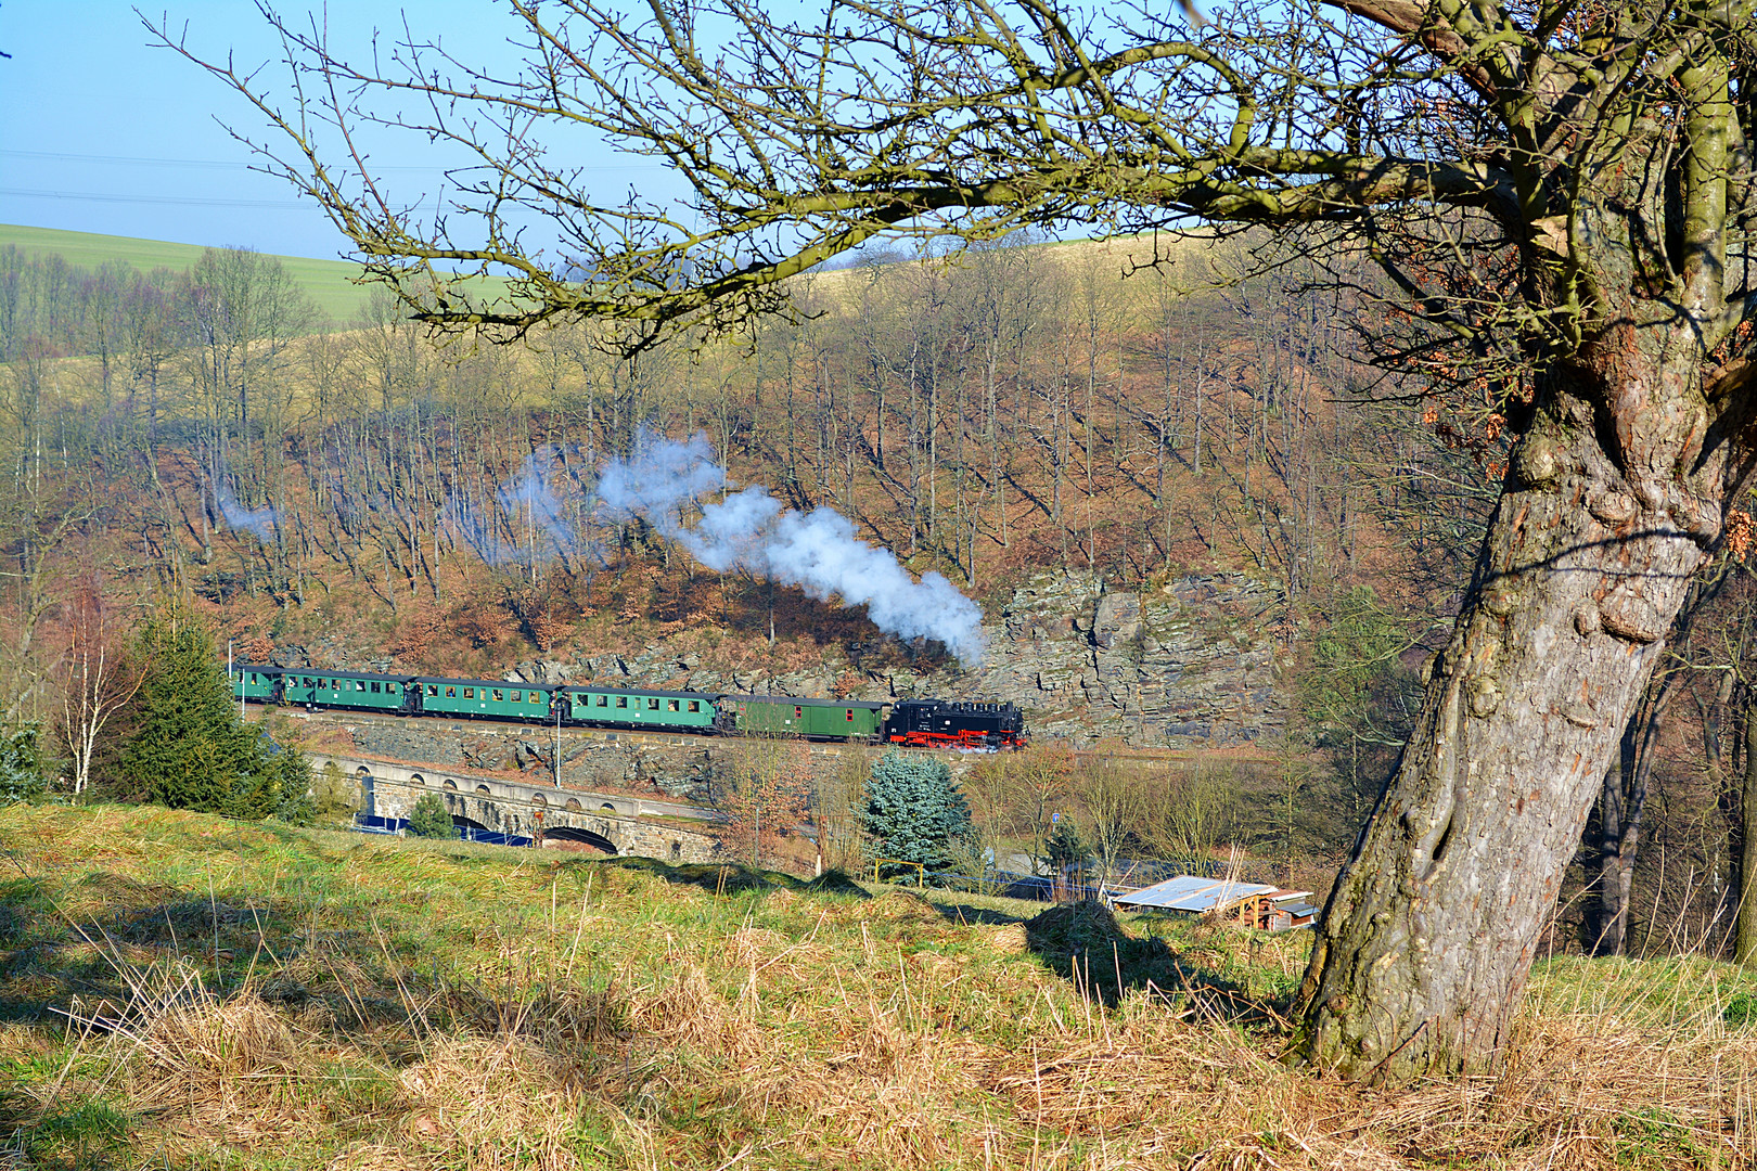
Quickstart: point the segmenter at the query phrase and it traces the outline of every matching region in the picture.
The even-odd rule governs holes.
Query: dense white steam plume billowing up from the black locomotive
[[[689,442],[641,435],[634,455],[611,460],[597,481],[613,511],[641,516],[708,569],[745,569],[792,585],[821,602],[840,597],[864,606],[880,630],[903,639],[936,639],[973,667],[982,662],[982,611],[942,574],[921,581],[889,550],[857,535],[835,509],[785,507],[766,488],[745,488],[683,523],[683,509],[726,485],[706,435]]]

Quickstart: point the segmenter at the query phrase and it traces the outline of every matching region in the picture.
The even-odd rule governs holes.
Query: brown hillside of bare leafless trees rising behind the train
[[[4,249],[9,718],[65,723],[93,614],[121,641],[174,595],[249,658],[495,678],[622,664],[654,683],[878,697],[898,679],[986,695],[1009,672],[1061,671],[1033,657],[1075,643],[1100,676],[1107,655],[1175,674],[1170,651],[1103,650],[1093,599],[1188,618],[1218,590],[1254,599],[1249,620],[1182,637],[1265,664],[1251,671],[1274,693],[1228,702],[1276,706],[1244,732],[1270,729],[1258,753],[1286,762],[1265,783],[1297,794],[1304,848],[1339,851],[1465,583],[1502,472],[1497,420],[1448,430],[1383,381],[1353,334],[1369,302],[1307,290],[1297,267],[1225,283],[1242,269],[1230,246],[1179,248],[1158,269],[1140,267],[1151,242],[875,256],[799,281],[792,320],[634,358],[606,327],[436,348],[383,298],[325,321],[251,253],[141,274]],[[998,644],[984,674],[836,597],[705,567],[606,504],[610,462],[696,434],[729,488],[847,516],[914,576],[975,599],[991,641],[1026,641]],[[1745,674],[1720,648],[1741,644],[1746,593],[1729,572],[1692,611],[1662,718],[1632,730],[1638,946],[1731,918],[1753,753]],[[1081,736],[1107,681],[1042,686],[1028,718]],[[1117,692],[1086,727],[1160,743],[1167,720]],[[1240,734],[1228,727],[1189,723],[1174,743],[1221,748]],[[1613,853],[1629,813],[1622,801],[1611,818]],[[1269,841],[1283,820],[1237,834]],[[1564,934],[1595,938],[1594,906],[1567,902]]]

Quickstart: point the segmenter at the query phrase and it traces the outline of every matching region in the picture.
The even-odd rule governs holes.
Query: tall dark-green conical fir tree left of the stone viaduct
[[[119,771],[130,788],[172,809],[260,818],[279,804],[276,765],[239,716],[213,637],[188,614],[141,630],[146,672]]]

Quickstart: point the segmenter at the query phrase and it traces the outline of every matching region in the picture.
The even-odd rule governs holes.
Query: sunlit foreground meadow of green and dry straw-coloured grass
[[[1752,983],[1710,964],[1544,966],[1502,1074],[1372,1092],[1272,1060],[1304,938],[1179,929],[1174,962],[1102,911],[155,809],[12,808],[0,843],[19,1166],[1753,1159]]]

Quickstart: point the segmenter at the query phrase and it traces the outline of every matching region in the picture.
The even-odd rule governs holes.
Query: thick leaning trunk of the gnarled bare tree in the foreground
[[[1297,1057],[1407,1081],[1490,1066],[1506,1045],[1606,765],[1722,523],[1725,456],[1703,456],[1697,372],[1666,360],[1697,356],[1680,342],[1613,328],[1539,390],[1416,730],[1330,895]],[[1697,476],[1710,492],[1685,486]]]

